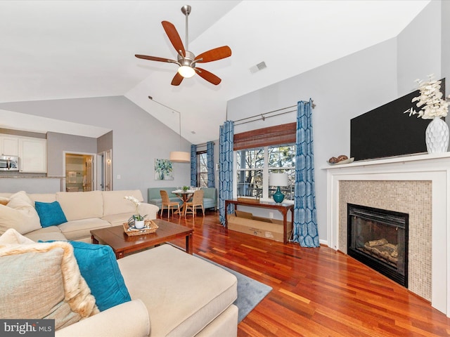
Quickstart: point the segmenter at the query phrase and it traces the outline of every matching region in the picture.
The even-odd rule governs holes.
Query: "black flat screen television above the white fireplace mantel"
[[[445,94],[445,79],[441,91]],[[409,117],[404,113],[419,91],[404,95],[397,100],[361,114],[350,121],[350,157],[354,160],[396,157],[427,152],[425,129],[430,119]]]

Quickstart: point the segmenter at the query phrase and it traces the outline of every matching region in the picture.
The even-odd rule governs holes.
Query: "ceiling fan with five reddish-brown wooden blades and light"
[[[181,12],[186,15],[186,48],[183,46],[181,38],[176,32],[176,28],[169,21],[162,21],[162,27],[164,28],[167,37],[169,37],[172,46],[174,46],[177,55],[177,60],[170,60],[167,58],[156,58],[155,56],[147,55],[134,55],[136,58],[143,58],[144,60],[158,61],[158,62],[169,62],[179,65],[178,72],[176,72],[175,77],[172,79],[172,86],[179,86],[181,81],[186,78],[193,77],[197,73],[200,77],[207,80],[208,82],[217,86],[221,82],[221,79],[216,75],[204,70],[202,68],[196,67],[197,63],[212,62],[216,60],[221,60],[222,58],[228,58],[231,56],[231,49],[229,46],[221,46],[218,48],[211,49],[210,51],[205,51],[198,56],[194,53],[188,51],[188,15],[191,13],[191,6],[181,7]]]

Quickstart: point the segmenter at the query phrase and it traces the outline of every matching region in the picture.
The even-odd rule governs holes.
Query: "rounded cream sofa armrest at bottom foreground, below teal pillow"
[[[55,331],[56,337],[144,337],[150,335],[150,318],[141,300],[116,305]]]

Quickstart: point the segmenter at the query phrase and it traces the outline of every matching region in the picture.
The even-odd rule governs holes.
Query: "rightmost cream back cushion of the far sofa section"
[[[124,197],[133,196],[139,201],[143,201],[140,190],[131,191],[108,191],[103,195],[103,216],[110,216],[119,213],[136,213],[136,206]]]

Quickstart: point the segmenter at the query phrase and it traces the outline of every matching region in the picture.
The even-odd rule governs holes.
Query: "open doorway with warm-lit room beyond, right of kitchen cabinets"
[[[95,154],[65,152],[65,191],[93,191]]]

